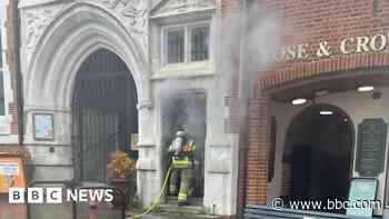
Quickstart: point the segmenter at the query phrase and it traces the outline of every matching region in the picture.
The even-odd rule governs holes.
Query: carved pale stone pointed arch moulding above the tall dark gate
[[[137,86],[138,102],[149,101],[147,59],[131,33],[104,9],[76,3],[46,28],[32,52],[24,76],[26,106],[69,108],[78,68],[101,48],[126,62]]]

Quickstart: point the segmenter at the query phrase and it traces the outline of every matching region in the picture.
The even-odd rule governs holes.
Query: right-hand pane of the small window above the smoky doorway
[[[208,60],[209,28],[193,28],[191,30],[191,61]]]

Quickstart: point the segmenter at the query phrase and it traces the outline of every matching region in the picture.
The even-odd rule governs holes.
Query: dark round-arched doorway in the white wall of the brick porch
[[[283,162],[291,167],[291,198],[347,200],[352,176],[353,125],[341,109],[315,104],[288,129]]]

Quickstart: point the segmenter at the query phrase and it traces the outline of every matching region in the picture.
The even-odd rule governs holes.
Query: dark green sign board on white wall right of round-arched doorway
[[[378,177],[383,171],[387,132],[383,119],[365,119],[358,125],[356,170],[360,177]]]

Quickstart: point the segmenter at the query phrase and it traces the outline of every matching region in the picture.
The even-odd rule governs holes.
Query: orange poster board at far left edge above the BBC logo
[[[8,193],[12,187],[26,188],[22,157],[0,153],[0,193]]]

